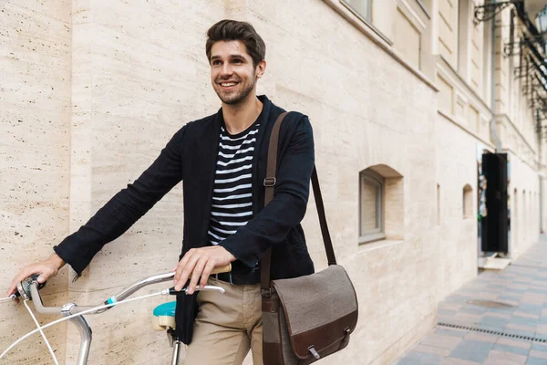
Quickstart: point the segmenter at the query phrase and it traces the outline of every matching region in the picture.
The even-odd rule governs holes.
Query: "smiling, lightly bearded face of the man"
[[[255,93],[257,78],[263,76],[265,61],[253,67],[253,58],[242,41],[221,41],[211,47],[211,82],[224,104],[237,104]]]

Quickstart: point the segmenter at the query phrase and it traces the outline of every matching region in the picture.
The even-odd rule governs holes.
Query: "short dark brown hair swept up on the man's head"
[[[207,31],[205,53],[210,62],[212,45],[216,42],[227,40],[242,41],[247,48],[247,52],[253,58],[253,66],[255,68],[266,57],[266,44],[250,23],[224,19],[210,27]]]

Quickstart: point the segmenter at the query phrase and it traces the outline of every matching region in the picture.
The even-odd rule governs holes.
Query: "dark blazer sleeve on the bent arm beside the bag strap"
[[[219,244],[245,266],[255,266],[268,248],[281,243],[304,219],[315,163],[314,136],[306,116],[297,121],[289,138],[286,150],[280,148],[284,154],[277,165],[274,199]]]

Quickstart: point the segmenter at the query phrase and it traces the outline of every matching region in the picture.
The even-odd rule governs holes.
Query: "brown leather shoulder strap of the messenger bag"
[[[277,120],[275,120],[274,128],[270,136],[270,144],[268,145],[268,161],[266,165],[266,178],[264,179],[264,206],[274,199],[275,173],[277,169],[277,147],[279,144],[279,130],[281,129],[281,123],[283,123],[284,117],[287,112],[282,113]],[[336,265],[335,250],[331,241],[328,226],[326,224],[325,206],[323,204],[323,196],[321,195],[321,188],[319,186],[319,179],[317,178],[317,171],[314,165],[314,171],[312,172],[312,187],[315,195],[315,204],[317,206],[317,214],[319,215],[319,224],[321,225],[321,234],[323,235],[323,243],[325,244],[325,252],[328,260],[328,265]],[[263,296],[266,292],[269,292],[270,288],[270,271],[272,267],[272,248],[269,248],[263,255],[261,260],[261,277],[260,284],[263,292]]]

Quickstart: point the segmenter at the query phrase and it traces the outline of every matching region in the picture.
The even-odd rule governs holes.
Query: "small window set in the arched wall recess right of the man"
[[[374,240],[384,235],[384,183],[377,172],[366,169],[359,174],[359,236],[361,240]]]

